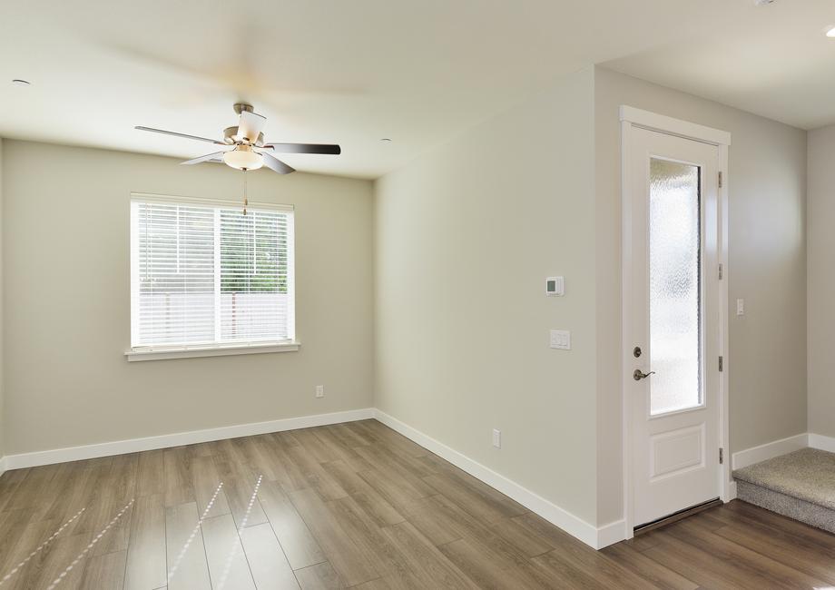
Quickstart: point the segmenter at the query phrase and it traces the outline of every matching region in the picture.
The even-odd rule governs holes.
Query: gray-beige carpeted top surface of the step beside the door
[[[798,498],[803,502],[835,510],[835,453],[817,448],[801,448],[782,457],[737,469],[733,472],[733,477],[754,486]],[[805,519],[802,520],[805,522]]]

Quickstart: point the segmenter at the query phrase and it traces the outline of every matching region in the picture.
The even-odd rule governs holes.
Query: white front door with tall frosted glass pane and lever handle
[[[642,526],[720,496],[720,151],[634,128],[626,153],[634,342],[625,369]]]

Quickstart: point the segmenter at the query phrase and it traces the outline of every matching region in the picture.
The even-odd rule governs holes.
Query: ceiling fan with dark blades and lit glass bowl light
[[[264,124],[267,118],[255,113],[249,103],[236,103],[233,107],[238,113],[238,126],[227,127],[223,130],[223,140],[214,140],[207,137],[198,137],[187,133],[176,133],[164,129],[153,129],[152,127],[137,126],[140,131],[152,133],[163,133],[194,139],[200,142],[216,143],[230,148],[221,152],[208,153],[199,158],[181,162],[182,164],[199,164],[201,162],[224,162],[227,166],[238,170],[257,170],[261,166],[267,166],[273,172],[290,174],[296,172],[295,168],[281,162],[273,153],[325,153],[339,155],[342,150],[339,145],[328,145],[321,143],[264,143]]]

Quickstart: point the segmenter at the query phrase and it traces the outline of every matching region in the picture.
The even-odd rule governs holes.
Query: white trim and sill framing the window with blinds
[[[172,196],[167,194],[158,194],[152,192],[131,192],[130,193],[130,200],[133,202],[135,201],[142,201],[142,202],[165,202],[165,203],[176,203],[176,204],[197,204],[197,205],[211,205],[211,206],[218,206],[218,205],[228,205],[228,206],[240,206],[240,201],[233,201],[228,199],[210,199],[205,197],[181,197],[181,196]],[[249,202],[248,206],[251,209],[270,209],[274,211],[293,211],[295,212],[294,205],[282,204],[282,203],[274,203],[274,202]],[[136,232],[134,228],[131,228],[131,240],[134,240],[134,236]],[[290,251],[290,256],[292,256],[292,260],[295,263],[295,228],[293,234],[290,236],[290,241],[288,243],[288,248]],[[133,244],[132,244],[133,247]],[[131,280],[132,283],[134,280],[138,280],[137,276],[134,276],[135,272],[133,271],[133,263],[131,264]],[[292,282],[292,288],[295,290],[295,280]],[[133,284],[131,288],[131,292],[133,293]],[[292,309],[290,310],[288,320],[290,323],[290,333],[296,333],[296,310],[295,310],[295,293],[292,293],[293,297],[290,300],[293,302]],[[133,310],[133,297],[131,298],[132,302],[132,310],[131,310],[131,321],[133,322],[137,317],[137,314]],[[131,326],[132,330],[135,329],[132,323]],[[173,347],[166,347],[166,346],[157,346],[157,347],[135,347],[132,349],[127,349],[124,352],[125,358],[129,362],[136,362],[142,360],[166,360],[166,359],[196,359],[201,357],[228,357],[232,355],[241,355],[241,354],[263,354],[269,352],[296,352],[300,349],[301,343],[297,339],[293,340],[282,340],[282,341],[273,341],[273,342],[237,342],[237,343],[221,343],[221,344],[206,344],[206,345],[192,345],[192,346],[173,346]]]

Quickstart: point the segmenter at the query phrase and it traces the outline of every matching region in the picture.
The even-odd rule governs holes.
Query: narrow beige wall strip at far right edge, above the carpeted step
[[[809,431],[835,437],[835,125],[809,132]]]

